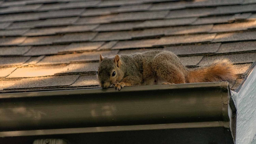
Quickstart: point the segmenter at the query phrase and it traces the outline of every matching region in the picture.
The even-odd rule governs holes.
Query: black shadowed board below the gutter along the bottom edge
[[[141,131],[97,132],[46,136],[20,136],[0,138],[1,144],[32,144],[35,139],[63,138],[69,144],[230,144],[233,138],[224,127],[159,129]]]

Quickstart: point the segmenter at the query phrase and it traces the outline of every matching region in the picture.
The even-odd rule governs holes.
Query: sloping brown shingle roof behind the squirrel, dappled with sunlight
[[[168,50],[187,67],[218,57],[238,90],[256,61],[255,0],[0,1],[0,91],[98,87],[99,54]]]

